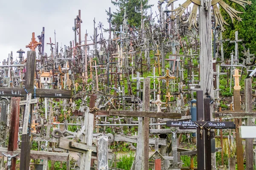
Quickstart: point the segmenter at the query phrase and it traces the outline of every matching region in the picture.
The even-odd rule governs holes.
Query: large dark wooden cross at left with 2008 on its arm
[[[24,88],[0,88],[0,96],[18,96],[26,98],[27,94],[33,97],[48,97],[48,98],[71,98],[72,91],[57,90],[57,89],[36,89],[34,87],[35,71],[36,71],[36,53],[35,51],[28,51],[26,61],[25,73],[25,87]],[[29,107],[33,107],[32,102],[29,102]],[[26,108],[24,109],[26,110]],[[32,109],[30,109],[32,111]],[[29,113],[32,118],[32,112]],[[25,116],[23,116],[25,117]],[[20,170],[28,170],[30,163],[30,138],[31,138],[31,120],[28,123],[27,133],[22,134]]]

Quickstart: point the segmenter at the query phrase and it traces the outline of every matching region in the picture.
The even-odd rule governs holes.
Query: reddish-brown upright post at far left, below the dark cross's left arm
[[[10,131],[9,131],[9,145],[8,151],[15,151],[19,135],[19,117],[20,117],[20,97],[11,98],[11,116],[10,116]],[[15,170],[17,158],[12,158],[12,165],[10,170]]]

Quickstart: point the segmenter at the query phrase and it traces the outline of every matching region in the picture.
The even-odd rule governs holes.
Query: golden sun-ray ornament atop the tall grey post
[[[167,4],[166,4],[166,9],[167,9],[173,2],[175,2],[177,0],[162,0],[162,1],[167,2]],[[230,0],[230,1],[239,4],[244,9],[245,9],[244,5],[252,4],[252,2],[249,0],[247,0],[247,1],[245,1],[245,0]],[[206,10],[208,9],[208,2],[209,2],[209,0],[204,0],[204,7]],[[181,16],[182,16],[183,12],[186,10],[186,8],[188,8],[191,3],[193,3],[192,11],[191,11],[188,19],[186,21],[182,22]],[[215,17],[215,27],[220,26],[221,30],[224,31],[224,24],[229,25],[222,17],[220,9],[217,4],[219,6],[221,6],[227,12],[227,14],[229,14],[229,16],[232,20],[232,23],[233,23],[234,18],[238,21],[242,20],[238,16],[238,14],[242,14],[243,12],[236,11],[234,8],[232,8],[227,3],[225,3],[223,0],[212,0],[212,9],[214,12],[214,17]],[[190,30],[192,28],[192,26],[195,26],[195,28],[198,28],[198,25],[196,22],[196,16],[197,16],[197,11],[198,11],[199,6],[201,6],[201,0],[186,0],[186,2],[184,2],[178,8],[176,8],[174,10],[167,10],[167,11],[174,12],[174,16],[179,17],[180,22],[182,22],[183,24],[189,23],[189,30]]]

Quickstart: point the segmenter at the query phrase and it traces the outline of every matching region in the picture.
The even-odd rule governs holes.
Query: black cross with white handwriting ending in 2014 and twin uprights
[[[169,127],[180,127],[180,129],[197,129],[197,156],[198,170],[211,170],[211,135],[210,129],[235,129],[234,122],[210,121],[210,99],[203,99],[203,91],[197,91],[197,120],[198,121],[167,121]],[[205,120],[205,121],[204,121]],[[202,147],[205,146],[205,147]],[[214,149],[215,150],[215,149]]]

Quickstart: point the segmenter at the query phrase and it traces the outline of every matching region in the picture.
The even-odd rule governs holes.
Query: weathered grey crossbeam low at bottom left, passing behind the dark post
[[[7,154],[19,154],[17,158],[22,157],[20,155],[20,149],[15,151],[7,151],[7,148],[0,147],[0,156],[3,156],[3,153]],[[44,151],[37,151],[31,150],[29,159],[43,159],[43,160],[53,160],[53,161],[67,161],[69,157],[69,153],[52,153],[52,152],[44,152]]]

